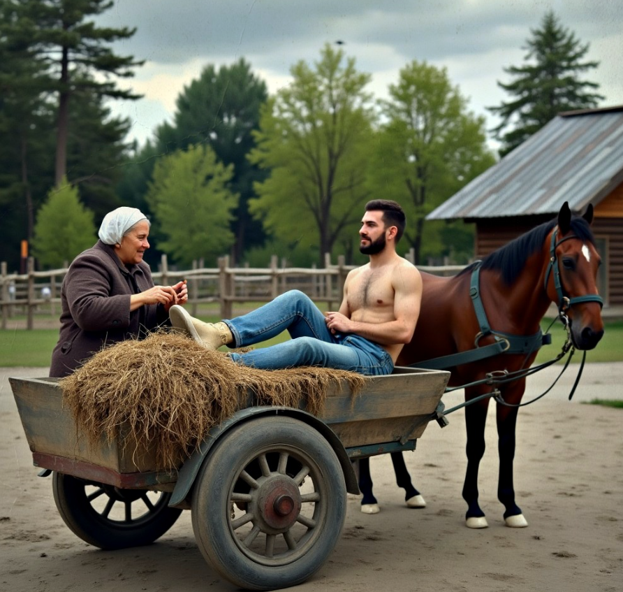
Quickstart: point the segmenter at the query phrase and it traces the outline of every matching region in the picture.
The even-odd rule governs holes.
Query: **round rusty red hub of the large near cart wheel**
[[[298,485],[286,475],[267,477],[258,489],[251,507],[258,526],[270,534],[282,533],[291,528],[300,510]]]

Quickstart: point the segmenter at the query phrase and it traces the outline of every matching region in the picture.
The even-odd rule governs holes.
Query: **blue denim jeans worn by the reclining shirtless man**
[[[323,366],[366,375],[390,374],[394,368],[391,356],[380,345],[359,335],[332,334],[323,313],[298,290],[281,294],[248,315],[224,322],[234,338],[231,347],[265,341],[284,329],[290,333],[289,341],[244,354],[229,354],[244,366],[264,370]]]

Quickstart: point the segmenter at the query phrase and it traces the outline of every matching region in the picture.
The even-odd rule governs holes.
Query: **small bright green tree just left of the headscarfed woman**
[[[35,224],[33,254],[44,268],[60,268],[96,242],[93,212],[87,210],[78,189],[63,179],[47,194]]]

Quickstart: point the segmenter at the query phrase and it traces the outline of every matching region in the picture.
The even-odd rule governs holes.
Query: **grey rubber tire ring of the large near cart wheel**
[[[276,560],[280,565],[249,557],[230,521],[230,495],[238,476],[265,452],[286,452],[295,462],[302,460],[309,467],[305,479],[312,479],[319,494],[316,526],[300,537],[297,545],[306,540],[298,549],[288,549]],[[236,426],[217,442],[197,477],[191,507],[198,547],[222,577],[251,590],[295,586],[321,568],[339,540],[346,518],[344,473],[334,450],[314,428],[290,417],[261,417]]]

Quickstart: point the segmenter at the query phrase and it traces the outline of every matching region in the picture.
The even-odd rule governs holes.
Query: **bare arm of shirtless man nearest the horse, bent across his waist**
[[[415,267],[401,265],[393,271],[391,281],[394,289],[393,321],[365,323],[351,320],[349,315],[345,314],[350,311],[346,303],[346,284],[344,284],[344,301],[339,312],[332,313],[328,318],[328,328],[342,333],[356,333],[380,345],[409,343],[420,315],[422,277]]]

